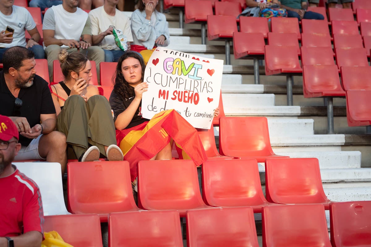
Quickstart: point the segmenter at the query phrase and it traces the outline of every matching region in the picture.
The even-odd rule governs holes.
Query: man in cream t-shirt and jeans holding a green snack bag
[[[91,29],[93,34],[93,45],[99,46],[104,50],[106,62],[117,62],[125,53],[115,43],[113,29],[120,29],[128,41],[128,51],[130,43],[133,41],[131,34],[130,19],[121,11],[116,10],[119,0],[105,0],[104,6],[93,9],[89,12]]]

